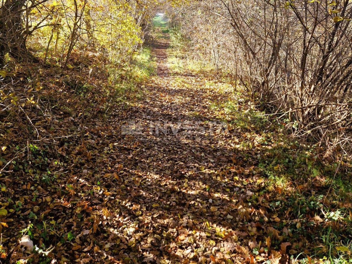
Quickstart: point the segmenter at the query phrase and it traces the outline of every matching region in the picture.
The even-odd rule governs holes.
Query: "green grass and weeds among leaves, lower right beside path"
[[[278,133],[271,135],[279,137],[275,142],[267,134],[261,143],[258,167],[265,178],[265,190],[281,197],[272,202],[272,209],[295,219],[289,224],[289,237],[313,241],[309,257],[320,259],[319,263],[351,263],[352,212],[347,193],[351,184],[342,180],[347,175],[338,173],[333,180],[338,164],[324,164],[314,146],[293,142]],[[297,263],[313,263],[302,259],[307,252],[302,255],[292,248],[292,253],[300,259]]]

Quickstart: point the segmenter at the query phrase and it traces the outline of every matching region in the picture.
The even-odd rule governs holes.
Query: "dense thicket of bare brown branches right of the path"
[[[297,135],[350,147],[351,1],[201,1],[175,16],[193,56],[275,105]]]

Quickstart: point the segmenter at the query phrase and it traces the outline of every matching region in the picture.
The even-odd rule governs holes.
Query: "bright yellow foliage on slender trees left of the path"
[[[72,54],[98,52],[110,61],[128,62],[142,43],[140,18],[148,19],[155,1],[52,0],[33,8],[29,23],[40,25],[27,45],[45,60],[62,65]],[[44,22],[43,22],[44,21]],[[68,55],[67,55],[68,54]],[[71,64],[66,64],[69,68]]]

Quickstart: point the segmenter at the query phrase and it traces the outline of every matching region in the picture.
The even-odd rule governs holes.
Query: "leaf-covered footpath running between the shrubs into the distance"
[[[98,262],[242,263],[264,239],[262,228],[272,228],[259,222],[265,208],[248,201],[260,188],[248,186],[259,178],[255,162],[238,150],[242,134],[210,111],[227,95],[204,77],[172,74],[167,47],[166,40],[153,47],[158,75],[145,98],[91,132],[86,148],[92,158],[77,176],[87,174],[89,184],[99,186],[80,204],[87,199],[101,218],[93,227],[74,228],[85,241],[76,248]]]

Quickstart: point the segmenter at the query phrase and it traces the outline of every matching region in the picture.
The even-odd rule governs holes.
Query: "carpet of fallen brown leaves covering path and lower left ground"
[[[89,119],[81,138],[60,138],[57,159],[68,170],[55,182],[18,174],[18,190],[7,184],[14,210],[0,228],[13,260],[39,261],[18,246],[29,222],[23,233],[59,263],[278,263],[311,246],[307,233],[321,219],[312,210],[313,224],[301,224],[260,165],[283,171],[270,151],[290,146],[264,121],[244,128],[245,114],[218,107],[233,98],[230,84],[173,72],[168,45],[153,45],[158,74],[142,100]]]

